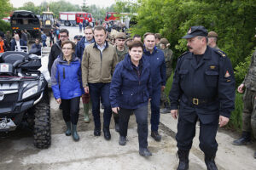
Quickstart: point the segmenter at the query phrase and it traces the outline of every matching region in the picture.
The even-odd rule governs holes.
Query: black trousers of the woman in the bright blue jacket
[[[62,116],[65,122],[76,125],[79,121],[80,97],[73,99],[61,99]]]

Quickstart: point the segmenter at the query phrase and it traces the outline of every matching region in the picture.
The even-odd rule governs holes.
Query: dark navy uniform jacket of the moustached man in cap
[[[197,64],[195,55],[185,53],[177,59],[177,66],[169,94],[171,109],[179,116],[194,122],[199,116],[201,122],[218,121],[218,116],[230,117],[235,108],[235,78],[230,59],[224,52],[207,47]],[[199,99],[199,105],[191,99]],[[206,99],[205,105],[200,102]]]

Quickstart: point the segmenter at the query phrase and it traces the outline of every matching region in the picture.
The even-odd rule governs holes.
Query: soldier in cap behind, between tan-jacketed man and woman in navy
[[[128,48],[125,47],[126,35],[124,32],[118,32],[115,36],[115,50],[118,54],[118,61],[125,59],[125,55],[128,54]],[[119,132],[119,115],[113,113],[113,120],[115,124],[115,131]]]

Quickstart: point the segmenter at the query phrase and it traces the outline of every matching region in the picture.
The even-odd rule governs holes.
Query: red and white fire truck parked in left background
[[[64,26],[75,26],[83,20],[92,22],[92,15],[85,12],[60,12],[60,20]]]

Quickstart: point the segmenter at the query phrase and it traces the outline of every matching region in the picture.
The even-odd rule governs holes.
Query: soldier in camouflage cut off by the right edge
[[[256,35],[255,35],[256,37]],[[243,96],[243,112],[242,112],[242,134],[241,138],[233,141],[235,145],[242,145],[251,142],[251,132],[253,132],[254,138],[256,138],[256,49],[252,56],[251,65],[244,81],[237,88],[239,93],[243,93],[245,88],[245,94]],[[254,152],[254,158],[256,159],[256,151]]]

